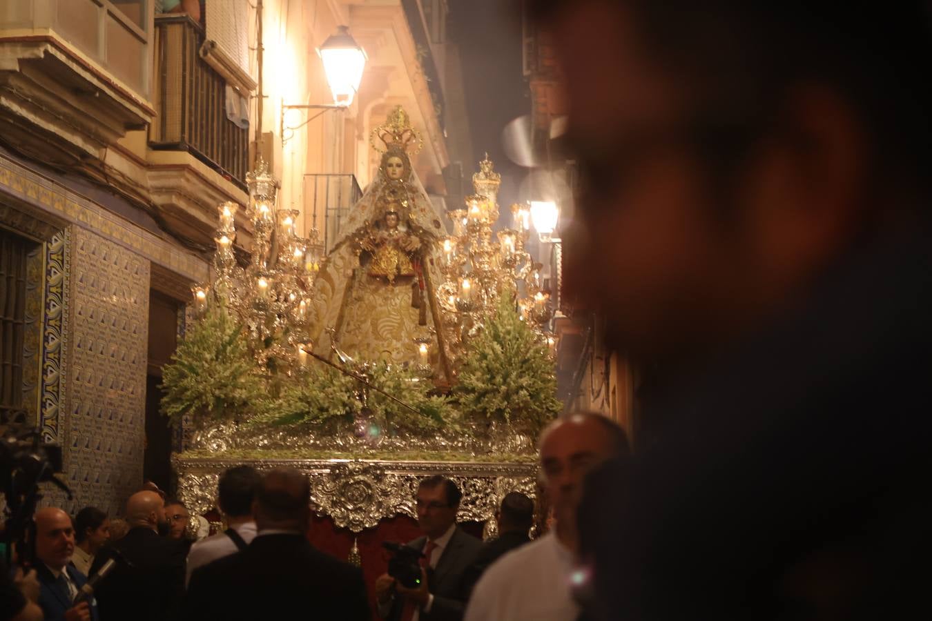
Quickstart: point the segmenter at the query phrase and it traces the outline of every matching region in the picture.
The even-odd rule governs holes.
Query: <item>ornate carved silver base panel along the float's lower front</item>
[[[310,479],[318,515],[337,527],[359,533],[396,515],[417,517],[414,498],[418,481],[442,474],[453,479],[463,498],[460,521],[486,521],[495,516],[501,498],[521,492],[534,498],[537,465],[531,462],[491,464],[474,462],[404,462],[388,460],[226,460],[173,459],[179,495],[194,512],[206,513],[214,504],[217,479],[228,467],[248,464],[259,470],[290,466]]]

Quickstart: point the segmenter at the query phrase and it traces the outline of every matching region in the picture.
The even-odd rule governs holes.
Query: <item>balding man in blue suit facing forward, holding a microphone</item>
[[[75,553],[75,529],[62,509],[45,507],[35,512],[35,573],[41,585],[39,607],[46,621],[90,621],[96,610],[87,601],[74,605],[75,596],[88,581],[69,564]]]

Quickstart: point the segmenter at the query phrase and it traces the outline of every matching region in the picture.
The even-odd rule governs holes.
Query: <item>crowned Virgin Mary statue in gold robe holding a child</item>
[[[425,362],[419,343],[442,334],[440,216],[411,169],[421,139],[397,106],[370,140],[381,152],[375,181],[351,209],[314,287],[314,348],[335,344],[357,361]],[[419,339],[420,341],[416,341]]]

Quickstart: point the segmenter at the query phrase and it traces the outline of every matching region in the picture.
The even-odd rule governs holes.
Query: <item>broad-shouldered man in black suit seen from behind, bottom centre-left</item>
[[[308,543],[307,476],[293,468],[272,470],[253,506],[253,542],[191,574],[185,619],[371,621],[363,573]]]

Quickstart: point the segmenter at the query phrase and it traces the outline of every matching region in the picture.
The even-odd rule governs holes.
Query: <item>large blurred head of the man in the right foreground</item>
[[[677,358],[728,343],[925,209],[925,3],[531,5],[555,35],[582,177],[566,282],[614,344]]]

